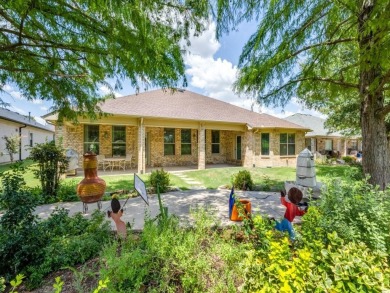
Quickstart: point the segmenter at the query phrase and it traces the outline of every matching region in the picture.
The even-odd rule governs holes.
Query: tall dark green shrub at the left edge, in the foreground
[[[36,262],[47,240],[33,215],[36,201],[26,188],[23,171],[21,164],[16,164],[1,175],[0,207],[5,213],[0,219],[0,275],[7,280]]]

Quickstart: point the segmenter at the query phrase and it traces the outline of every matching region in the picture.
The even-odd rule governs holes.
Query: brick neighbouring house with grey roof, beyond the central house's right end
[[[312,152],[322,155],[349,155],[351,151],[361,151],[362,141],[357,137],[346,137],[339,132],[329,132],[324,126],[325,119],[309,114],[294,114],[285,120],[312,129],[305,136],[305,145]]]

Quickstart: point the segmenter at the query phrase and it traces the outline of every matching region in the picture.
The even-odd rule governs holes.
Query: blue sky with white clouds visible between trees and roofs
[[[191,38],[191,46],[186,48],[184,61],[186,65],[186,75],[188,80],[187,90],[219,99],[230,104],[253,109],[255,112],[267,113],[279,118],[290,116],[294,113],[305,113],[319,117],[322,114],[303,108],[295,97],[291,97],[291,102],[284,108],[264,107],[254,103],[253,99],[239,97],[233,92],[232,85],[237,75],[237,64],[241,50],[255,31],[255,23],[243,23],[236,31],[222,36],[220,40],[215,38],[216,25],[211,22],[208,29],[199,37]],[[135,89],[122,82],[123,89],[116,92],[116,96],[124,96],[135,93]],[[11,104],[9,110],[22,115],[29,115],[42,124],[46,122],[40,118],[50,112],[51,104],[34,100],[27,101],[18,91],[17,87],[7,84],[3,87],[6,93],[0,95],[4,102]],[[102,86],[102,93],[107,93],[108,89]]]

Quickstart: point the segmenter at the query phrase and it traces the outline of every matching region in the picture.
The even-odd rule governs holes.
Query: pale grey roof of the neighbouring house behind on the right
[[[343,137],[343,135],[339,132],[329,132],[328,129],[325,128],[324,123],[325,119],[320,117],[315,117],[310,114],[294,114],[284,118],[285,120],[302,125],[303,127],[307,127],[312,129],[311,132],[308,132],[306,136],[332,136],[332,137]]]

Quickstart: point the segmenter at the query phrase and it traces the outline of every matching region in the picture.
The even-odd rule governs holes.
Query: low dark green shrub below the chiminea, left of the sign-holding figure
[[[41,248],[41,261],[26,268],[29,286],[33,288],[48,273],[84,263],[96,256],[110,236],[109,222],[105,221],[105,214],[98,210],[88,220],[81,213],[69,217],[68,211],[56,209],[41,225],[49,243]]]

